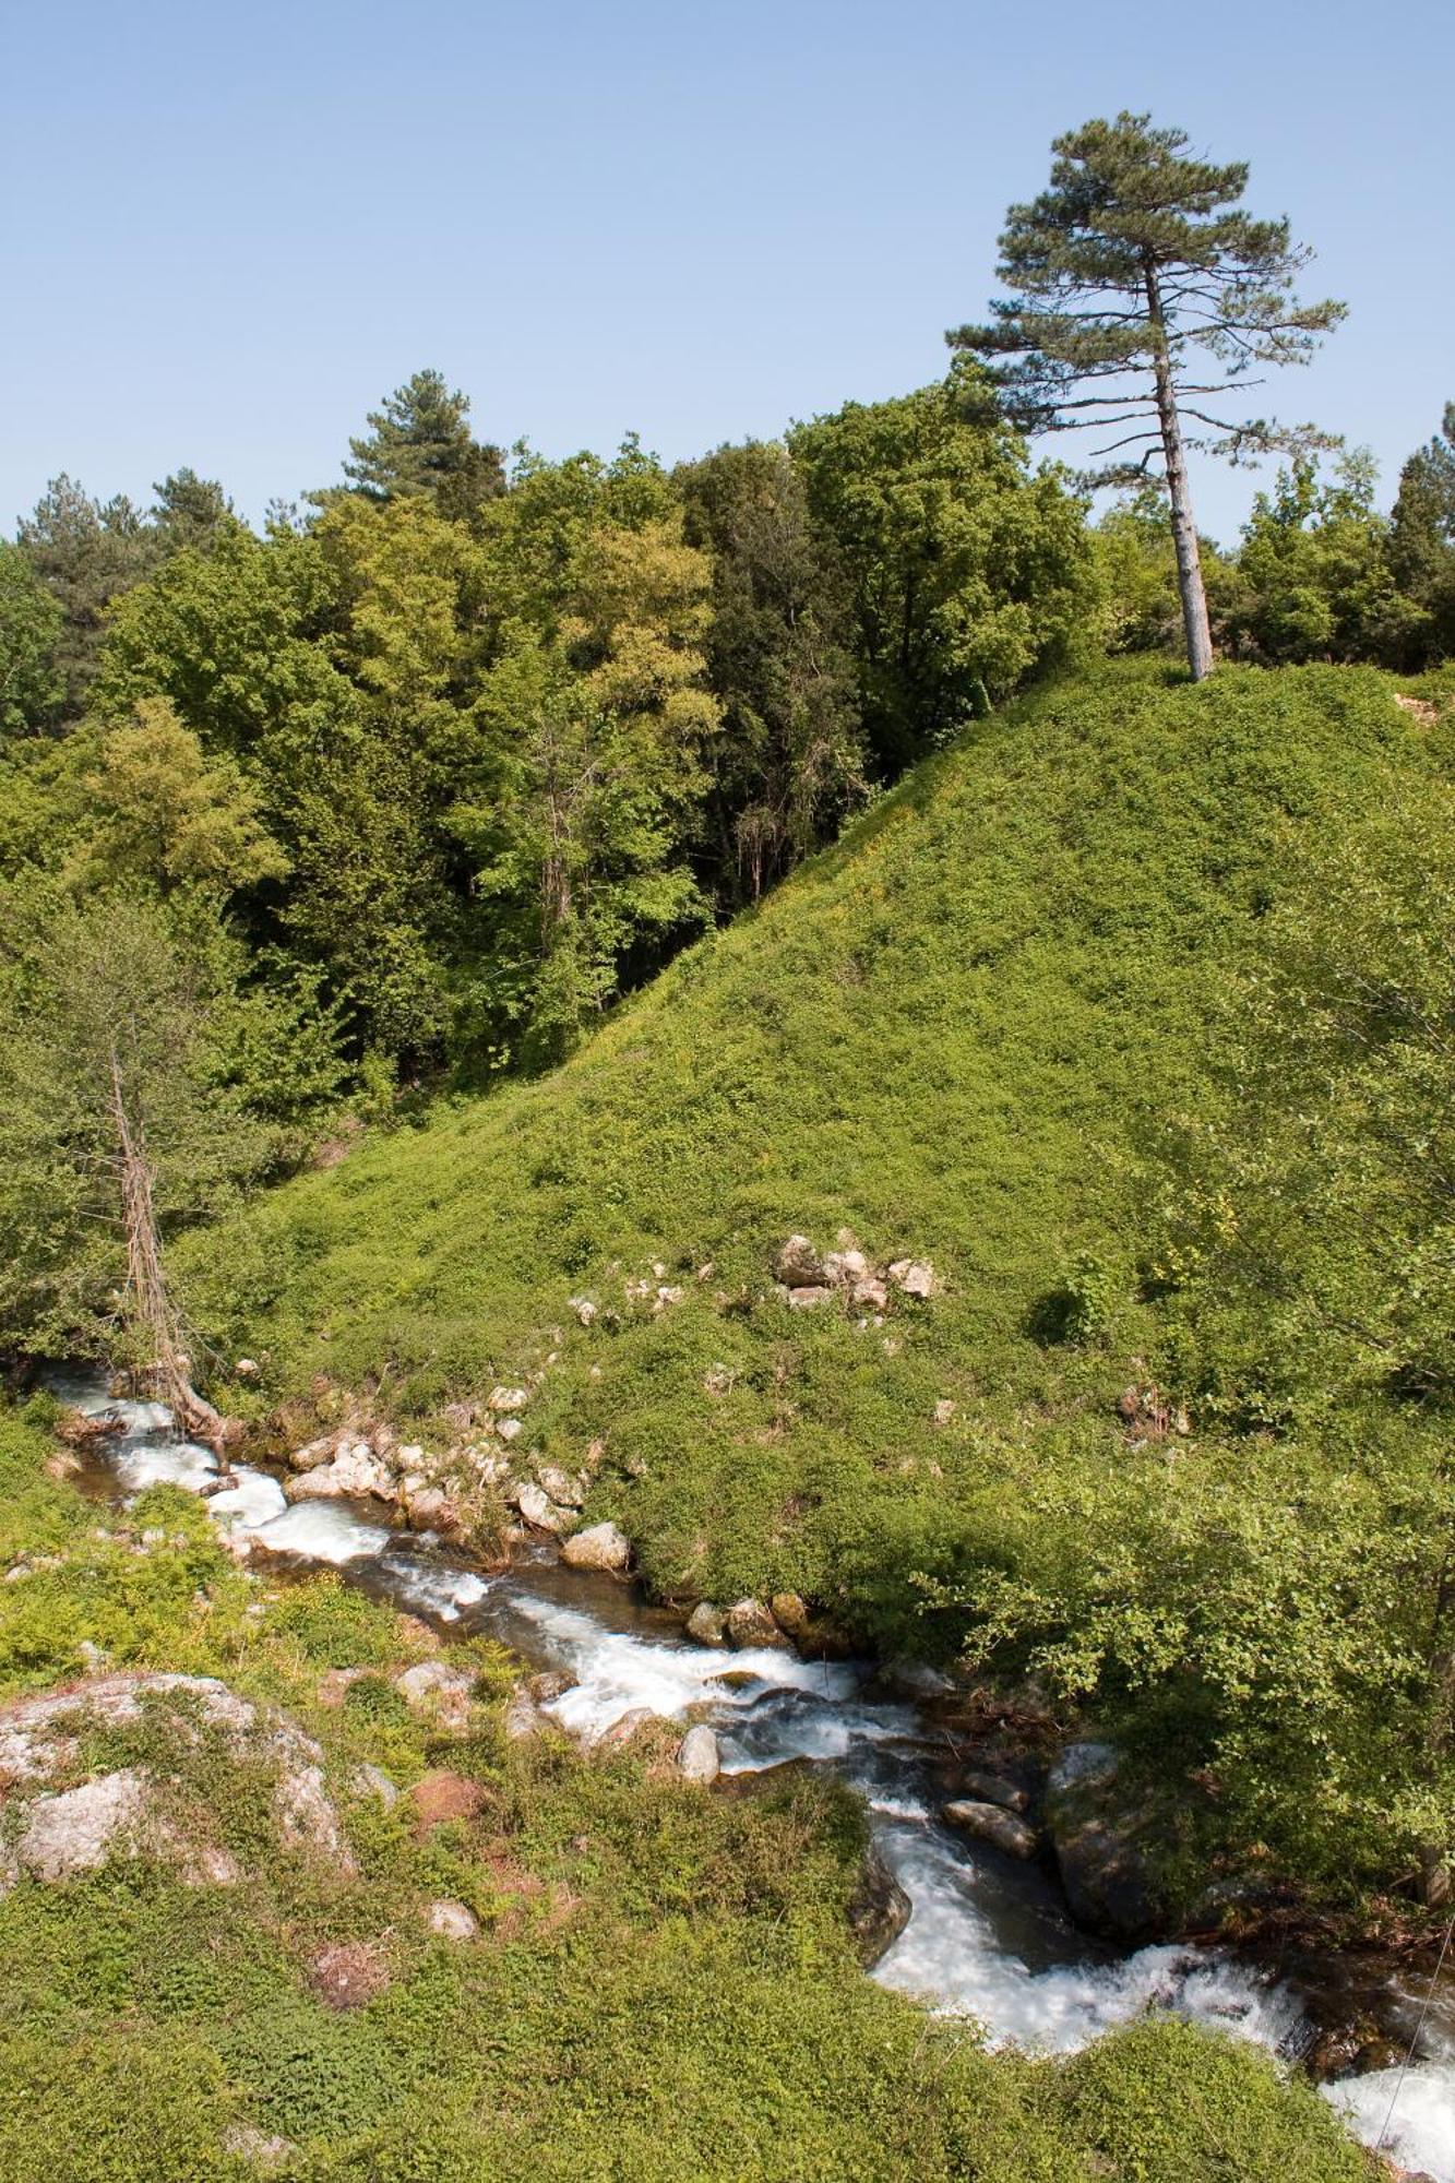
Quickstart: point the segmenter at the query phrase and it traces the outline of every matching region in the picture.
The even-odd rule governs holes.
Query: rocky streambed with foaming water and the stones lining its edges
[[[738,1602],[736,1622],[732,1611],[710,1611],[688,1631],[610,1574],[625,1563],[612,1526],[577,1530],[572,1552],[570,1541],[564,1550],[548,1543],[551,1526],[531,1528],[527,1511],[511,1563],[481,1565],[459,1532],[450,1543],[428,1528],[395,1528],[398,1515],[391,1522],[363,1474],[378,1458],[358,1436],[339,1439],[317,1463],[310,1452],[286,1474],[295,1482],[341,1465],[350,1489],[336,1476],[328,1491],[293,1484],[288,1498],[284,1478],[247,1465],[223,1480],[208,1450],[175,1436],[159,1404],[114,1401],[96,1380],[61,1382],[57,1393],[90,1417],[118,1417],[120,1430],[92,1443],[94,1491],[131,1495],[168,1480],[208,1493],[238,1552],[280,1567],[328,1563],[443,1631],[496,1635],[544,1672],[542,1696],[522,1705],[540,1703],[588,1742],[666,1718],[684,1725],[679,1762],[703,1781],[791,1762],[832,1766],[872,1821],[872,1976],[928,2008],[974,2017],[992,2043],[1068,2052],[1160,2008],[1293,2061],[1337,2008],[1339,1980],[1326,1965],[1317,1976],[1278,1976],[1226,1947],[1116,1945],[1073,1919],[1075,1901],[1103,1930],[1134,1934],[1140,1914],[1136,1864],[1097,1840],[1114,1766],[1103,1746],[1070,1746],[1049,1777],[994,1735],[961,1749],[937,1718],[944,1692],[924,1674],[808,1657],[791,1644],[784,1624],[802,1602],[773,1602],[778,1613]],[[513,1399],[516,1391],[500,1393]],[[402,1452],[404,1463],[411,1454]],[[419,1476],[415,1500],[426,1491],[435,1489]],[[417,1526],[428,1513],[428,1502],[409,1511]],[[1040,1853],[1044,1825],[1066,1888]],[[1455,2183],[1455,2002],[1440,1993],[1427,2006],[1422,1984],[1403,1989],[1379,1971],[1355,2006],[1379,2015],[1400,2054],[1413,2048],[1411,2061],[1344,2076],[1326,2096],[1365,2144]]]

